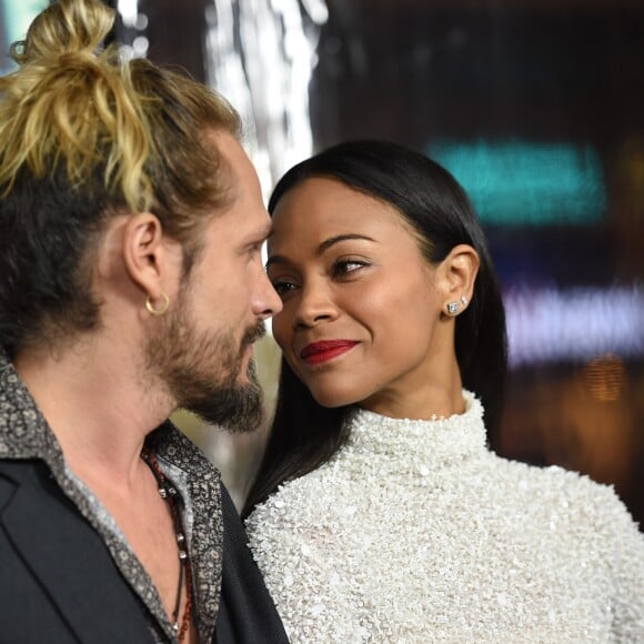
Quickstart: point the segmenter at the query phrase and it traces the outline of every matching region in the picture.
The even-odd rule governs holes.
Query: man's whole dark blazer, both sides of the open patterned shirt
[[[222,486],[218,644],[288,644]],[[42,461],[0,460],[0,644],[147,644],[147,607]]]

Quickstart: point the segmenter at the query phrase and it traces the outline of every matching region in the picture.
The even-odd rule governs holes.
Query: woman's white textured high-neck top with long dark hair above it
[[[445,420],[353,412],[251,514],[291,642],[644,642],[644,535],[613,490],[494,455],[464,395]]]

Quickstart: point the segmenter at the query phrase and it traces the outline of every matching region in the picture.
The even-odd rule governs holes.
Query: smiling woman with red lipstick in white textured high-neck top
[[[269,210],[284,360],[244,513],[291,641],[644,641],[644,540],[613,491],[486,447],[504,313],[454,179],[345,143]]]

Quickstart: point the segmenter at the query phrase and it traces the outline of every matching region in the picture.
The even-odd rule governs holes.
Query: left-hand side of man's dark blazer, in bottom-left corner
[[[145,644],[147,608],[42,461],[0,461],[0,642]]]

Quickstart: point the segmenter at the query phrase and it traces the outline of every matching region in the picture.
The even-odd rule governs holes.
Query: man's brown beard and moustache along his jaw
[[[262,322],[249,329],[241,348],[234,332],[199,332],[190,320],[185,302],[159,320],[160,326],[147,345],[148,369],[165,384],[179,407],[205,423],[231,432],[250,432],[263,420],[263,392],[251,360],[246,376],[239,382],[250,344],[265,334]]]

